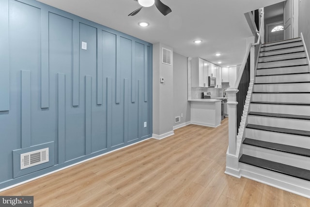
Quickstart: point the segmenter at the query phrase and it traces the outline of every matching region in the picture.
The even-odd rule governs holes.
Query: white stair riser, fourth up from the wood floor
[[[248,115],[248,124],[262,125],[268,127],[290,128],[298,130],[309,130],[310,120],[288,119],[269,116]]]

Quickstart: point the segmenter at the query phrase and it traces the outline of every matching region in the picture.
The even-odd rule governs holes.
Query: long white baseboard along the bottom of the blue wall
[[[22,184],[25,184],[25,183],[28,183],[28,182],[31,182],[32,180],[36,180],[36,179],[39,179],[39,178],[41,178],[41,177],[45,177],[45,176],[47,176],[47,175],[51,175],[51,174],[57,173],[57,172],[59,172],[59,171],[62,171],[62,170],[64,170],[64,169],[67,169],[67,168],[69,168],[69,167],[73,167],[73,166],[78,165],[78,164],[80,164],[80,163],[83,163],[83,162],[89,161],[89,160],[91,160],[91,159],[95,159],[95,158],[98,158],[98,157],[107,155],[107,154],[109,154],[109,153],[112,153],[112,152],[115,152],[115,151],[124,149],[124,148],[126,148],[126,147],[128,147],[128,146],[131,146],[131,145],[134,145],[134,144],[137,144],[137,143],[141,143],[141,142],[144,142],[144,141],[149,140],[149,139],[152,139],[152,137],[147,138],[147,139],[145,139],[145,140],[141,140],[141,141],[136,142],[136,143],[128,144],[128,145],[126,145],[126,146],[120,147],[120,148],[118,148],[118,149],[114,149],[114,150],[112,150],[112,151],[106,152],[106,153],[104,153],[104,154],[101,154],[101,155],[98,155],[98,156],[95,156],[95,157],[92,157],[92,158],[89,158],[89,159],[85,159],[85,160],[79,161],[79,162],[77,162],[77,163],[74,163],[74,164],[65,166],[65,167],[60,168],[60,169],[58,169],[58,170],[55,170],[55,171],[46,173],[46,174],[44,174],[44,175],[40,175],[40,176],[37,176],[37,177],[33,177],[33,178],[29,179],[29,180],[25,180],[25,181],[23,181],[23,182],[16,183],[16,184],[14,184],[14,185],[12,185],[12,186],[9,186],[9,187],[0,189],[0,192],[1,192],[1,191],[9,190],[9,189],[11,189],[11,188],[14,188],[14,187],[16,187],[16,186],[19,186],[19,185],[22,185]]]

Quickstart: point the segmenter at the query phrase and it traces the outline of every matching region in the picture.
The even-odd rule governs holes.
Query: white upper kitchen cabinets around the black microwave
[[[191,86],[207,88],[209,76],[217,78],[215,88],[221,88],[221,67],[201,58],[193,58],[191,61]]]

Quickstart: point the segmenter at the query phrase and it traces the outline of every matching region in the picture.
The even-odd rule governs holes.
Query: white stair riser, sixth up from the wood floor
[[[310,103],[310,94],[253,94],[252,101]]]

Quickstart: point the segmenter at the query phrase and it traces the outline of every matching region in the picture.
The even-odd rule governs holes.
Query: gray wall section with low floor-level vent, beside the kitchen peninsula
[[[180,123],[173,122],[173,126],[182,125],[190,121],[190,103],[187,101],[187,58],[173,53],[173,118],[181,116]]]

